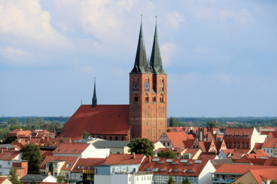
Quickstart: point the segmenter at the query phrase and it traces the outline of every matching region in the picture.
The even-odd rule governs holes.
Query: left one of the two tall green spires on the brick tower
[[[135,63],[130,74],[137,74],[137,73],[151,73],[151,70],[147,65],[147,56],[146,56],[145,45],[144,45],[142,23],[140,26]]]

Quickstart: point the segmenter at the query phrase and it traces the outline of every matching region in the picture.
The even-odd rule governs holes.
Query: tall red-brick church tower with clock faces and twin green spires
[[[135,63],[130,72],[131,138],[156,141],[166,131],[166,76],[157,25],[150,62],[147,62],[141,24]]]

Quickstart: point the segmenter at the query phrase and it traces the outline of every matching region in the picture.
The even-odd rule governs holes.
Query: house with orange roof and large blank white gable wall
[[[79,156],[80,158],[106,158],[110,149],[96,149],[92,144],[62,143],[53,152],[53,156]]]

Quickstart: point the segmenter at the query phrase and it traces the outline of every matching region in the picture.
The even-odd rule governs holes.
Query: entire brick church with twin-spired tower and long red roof
[[[141,23],[134,67],[129,74],[129,105],[98,105],[94,83],[92,105],[81,105],[59,130],[59,137],[74,141],[86,131],[91,137],[105,140],[160,138],[167,122],[167,74],[163,70],[157,22],[150,61],[144,43]]]

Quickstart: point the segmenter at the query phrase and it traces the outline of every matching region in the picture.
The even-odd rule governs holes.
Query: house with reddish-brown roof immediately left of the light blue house
[[[71,181],[94,180],[94,167],[103,164],[106,158],[79,158],[70,171]]]

